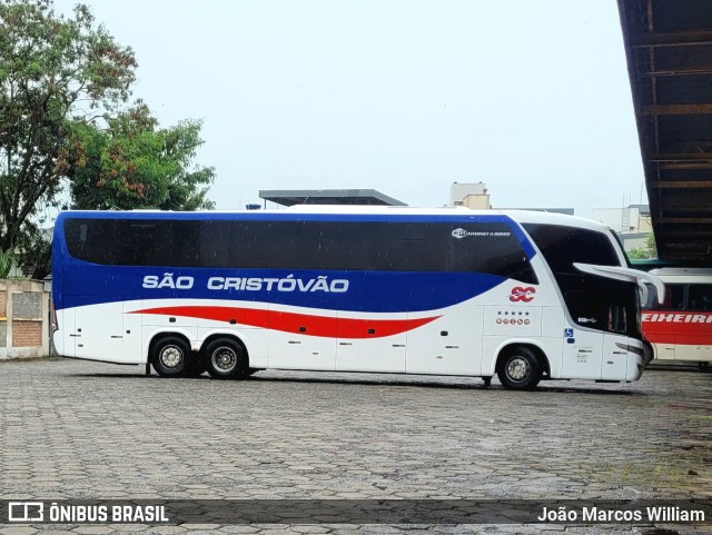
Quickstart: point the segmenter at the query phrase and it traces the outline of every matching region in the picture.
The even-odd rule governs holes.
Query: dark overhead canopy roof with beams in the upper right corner
[[[712,3],[617,1],[657,254],[712,265]]]

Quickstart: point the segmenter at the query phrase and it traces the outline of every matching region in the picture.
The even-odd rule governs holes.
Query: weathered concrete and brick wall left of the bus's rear
[[[0,280],[0,359],[49,355],[44,283]]]

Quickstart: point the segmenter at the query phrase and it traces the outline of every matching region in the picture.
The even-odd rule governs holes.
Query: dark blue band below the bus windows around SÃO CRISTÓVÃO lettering
[[[208,269],[208,268],[150,268],[96,266],[65,258],[61,288],[55,287],[57,309],[97,305],[102,303],[128,301],[138,299],[224,299],[253,303],[270,303],[326,310],[348,310],[360,313],[413,313],[435,310],[463,303],[495,288],[507,279],[496,275],[469,273],[394,273],[394,271],[328,271],[328,270],[285,270],[285,269]],[[157,277],[152,285],[164,279],[192,277],[190,289],[144,288],[146,276]],[[301,288],[309,280],[327,276],[326,284],[335,291],[322,289],[312,291],[296,289],[279,291],[277,283],[267,291],[267,283],[260,290],[209,289],[211,277],[239,277],[259,279],[300,279]],[[334,280],[348,280],[345,284]],[[187,279],[181,279],[187,286]],[[334,285],[332,287],[332,285]],[[220,286],[220,281],[212,281]],[[284,288],[291,284],[284,284]],[[508,288],[502,290],[508,295]]]

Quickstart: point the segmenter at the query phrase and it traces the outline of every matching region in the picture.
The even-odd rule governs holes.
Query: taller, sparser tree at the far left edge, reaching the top
[[[72,133],[127,100],[136,66],[86,6],[65,18],[51,0],[0,0],[1,251],[33,239],[32,217],[57,198]]]

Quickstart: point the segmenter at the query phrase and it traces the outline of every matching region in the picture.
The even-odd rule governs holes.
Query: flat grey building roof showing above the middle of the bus
[[[407,206],[375,189],[260,189],[259,198],[281,206],[380,205]]]

